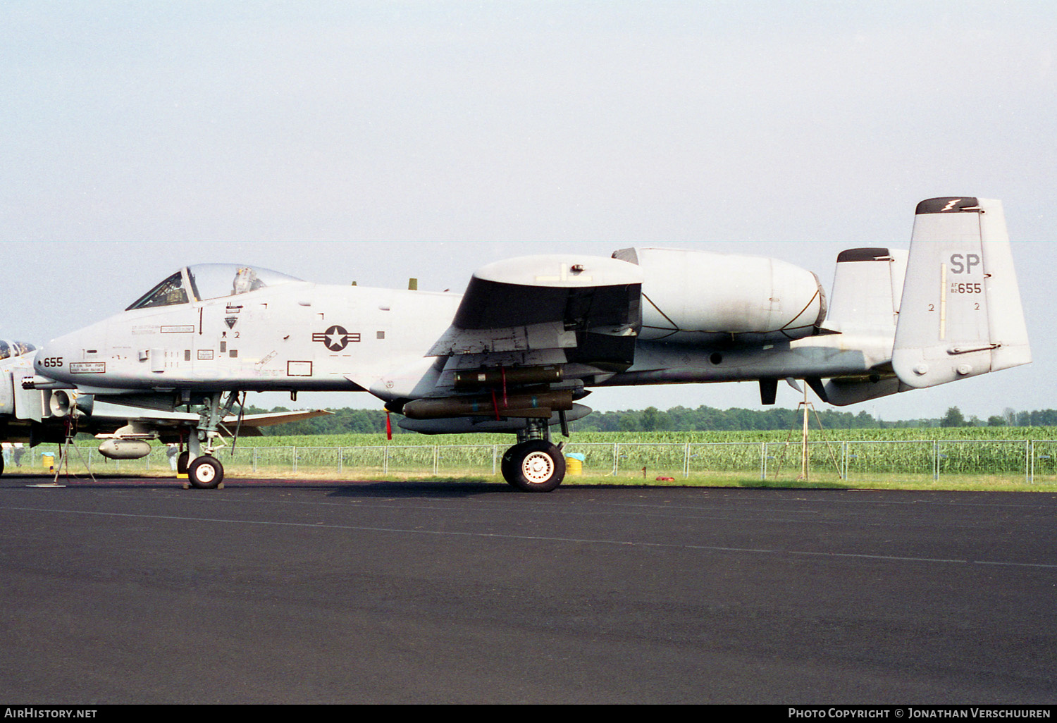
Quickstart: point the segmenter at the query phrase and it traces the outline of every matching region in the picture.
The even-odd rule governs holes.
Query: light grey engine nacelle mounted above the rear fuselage
[[[625,248],[643,268],[644,341],[763,344],[816,333],[826,293],[812,272],[759,256]]]

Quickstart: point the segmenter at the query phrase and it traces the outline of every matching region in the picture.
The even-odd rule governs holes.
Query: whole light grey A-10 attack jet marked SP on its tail
[[[37,352],[39,389],[199,411],[189,479],[212,487],[239,392],[368,391],[425,433],[506,431],[503,477],[530,492],[564,476],[551,426],[590,387],[780,379],[863,402],[1031,362],[998,201],[917,205],[909,255],[837,258],[818,278],[776,259],[626,248],[488,264],[464,294],[319,285],[249,266],[181,268],[125,312]]]

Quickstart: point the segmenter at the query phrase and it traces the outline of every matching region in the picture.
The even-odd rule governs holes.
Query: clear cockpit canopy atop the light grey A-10
[[[300,280],[267,268],[237,263],[200,263],[181,268],[125,311],[219,299]]]

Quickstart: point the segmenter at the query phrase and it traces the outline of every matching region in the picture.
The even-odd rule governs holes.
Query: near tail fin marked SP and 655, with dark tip
[[[917,204],[892,368],[934,387],[1032,360],[999,201]]]

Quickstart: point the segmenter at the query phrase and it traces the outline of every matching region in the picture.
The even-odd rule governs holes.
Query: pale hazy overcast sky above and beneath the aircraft
[[[967,194],[1023,242],[1036,363],[852,409],[1057,407],[1055,37],[1049,1],[12,0],[0,335],[45,341],[202,261],[458,291],[505,256],[726,241],[828,285],[841,248],[905,246],[917,201]]]

